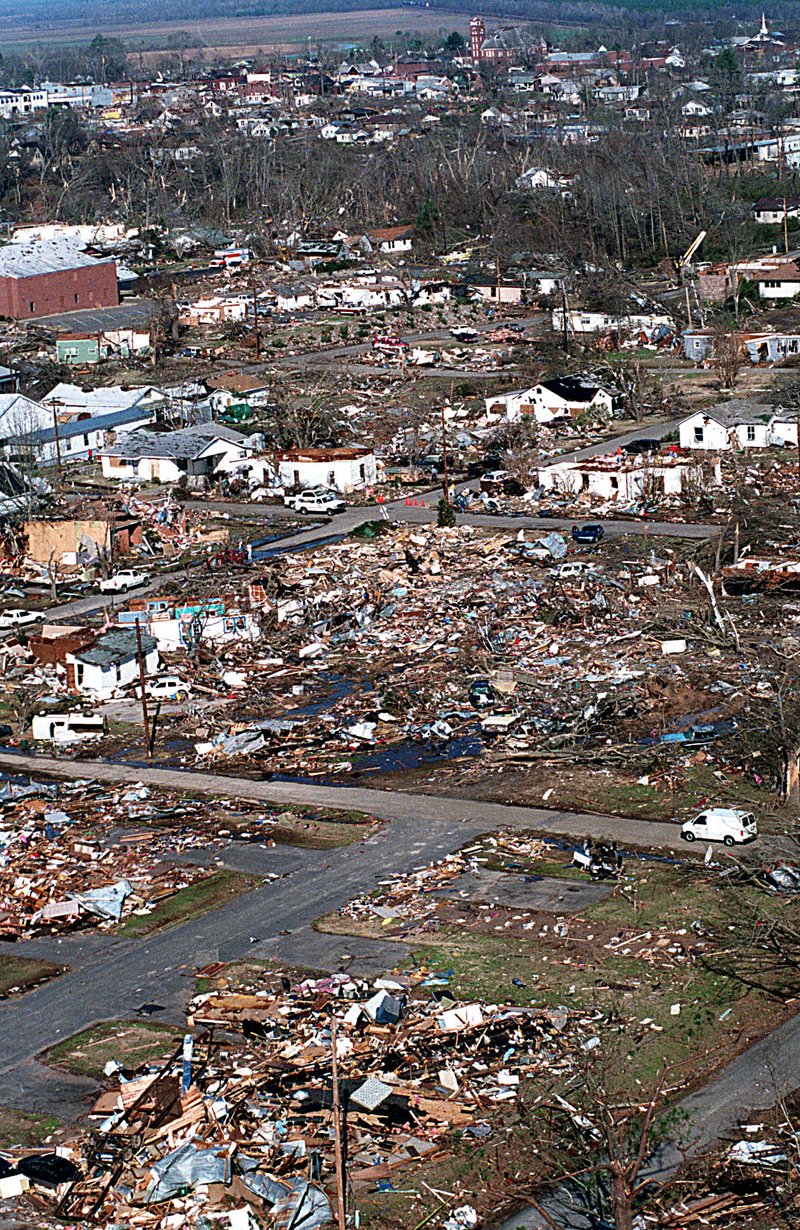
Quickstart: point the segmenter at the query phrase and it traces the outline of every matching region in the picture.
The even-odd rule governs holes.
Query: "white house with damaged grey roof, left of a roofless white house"
[[[130,432],[101,450],[105,478],[178,482],[234,474],[252,448],[246,437],[219,423],[178,432]]]

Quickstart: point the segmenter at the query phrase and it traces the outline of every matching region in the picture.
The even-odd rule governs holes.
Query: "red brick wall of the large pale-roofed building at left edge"
[[[32,320],[81,308],[113,308],[119,303],[113,261],[32,278],[0,277],[0,316]],[[31,308],[33,304],[33,308]]]

